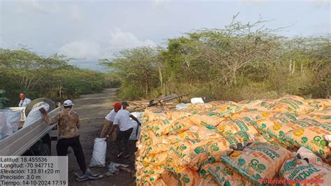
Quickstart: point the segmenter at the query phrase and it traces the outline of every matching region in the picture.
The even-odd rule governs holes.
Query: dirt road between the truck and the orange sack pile
[[[73,100],[75,104],[73,109],[80,115],[80,142],[84,150],[86,163],[89,164],[93,152],[94,138],[100,135],[102,122],[105,115],[112,110],[112,105],[119,101],[116,96],[116,89],[106,89],[101,94],[83,95],[80,99]],[[53,134],[54,135],[54,134]],[[128,164],[129,168],[134,170],[134,152],[135,141],[129,143],[131,149],[130,159],[118,159],[116,157],[117,150],[115,143],[111,140],[107,144],[106,164],[116,162],[119,164]],[[100,180],[87,180],[84,182],[76,182],[74,172],[80,172],[76,162],[73,150],[69,148],[68,153],[68,181],[69,185],[135,185],[135,178],[132,178],[130,173],[121,171],[117,176],[105,176]],[[52,155],[56,155],[56,142],[52,143]],[[90,168],[94,173],[105,173],[106,168]]]

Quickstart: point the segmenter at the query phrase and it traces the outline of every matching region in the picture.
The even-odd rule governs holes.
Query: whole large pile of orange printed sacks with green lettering
[[[293,159],[289,150],[305,147],[330,159],[323,139],[331,132],[330,108],[330,100],[299,96],[147,108],[137,142],[137,184],[256,185],[279,178],[281,165]]]

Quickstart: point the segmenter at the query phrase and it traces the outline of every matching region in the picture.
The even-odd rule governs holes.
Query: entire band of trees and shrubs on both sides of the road
[[[242,23],[234,17],[223,29],[168,38],[163,48],[122,50],[112,59],[99,60],[109,73],[79,69],[62,55],[0,49],[0,89],[14,102],[20,91],[32,99],[61,100],[105,87],[119,87],[125,100],[173,93],[232,101],[284,94],[330,96],[331,35],[287,38],[264,23]]]

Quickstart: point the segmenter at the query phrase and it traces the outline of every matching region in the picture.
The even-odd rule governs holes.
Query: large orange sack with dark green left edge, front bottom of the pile
[[[260,179],[277,178],[281,165],[291,157],[293,153],[286,148],[256,142],[243,150],[233,150],[228,155],[222,155],[221,160],[251,183],[258,185]]]

